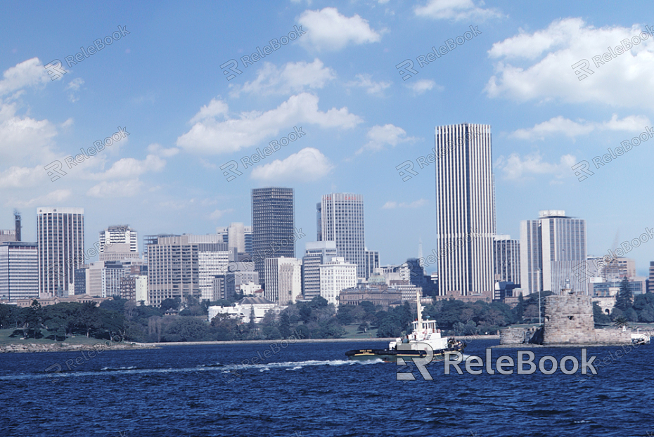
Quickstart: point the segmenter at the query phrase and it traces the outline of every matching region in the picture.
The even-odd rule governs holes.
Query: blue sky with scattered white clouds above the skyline
[[[520,220],[565,209],[586,219],[589,254],[606,254],[616,237],[654,226],[654,138],[592,163],[653,126],[654,36],[615,53],[654,25],[644,21],[653,10],[646,1],[3,2],[0,228],[13,227],[18,208],[24,240],[34,240],[35,208],[66,206],[84,207],[87,247],[118,223],[139,235],[212,233],[249,225],[250,190],[278,185],[295,188],[306,241],[321,195],[364,195],[366,245],[381,263],[401,263],[420,238],[425,254],[435,247],[435,176],[433,164],[416,164],[403,182],[396,167],[428,155],[435,126],[472,122],[492,126],[498,233],[518,238]],[[67,65],[119,26],[120,39]],[[300,26],[304,34],[243,67],[242,56]],[[470,26],[481,33],[418,67]],[[608,46],[615,56],[595,65]],[[51,80],[44,66],[57,59],[66,73]],[[227,80],[231,59],[242,73]],[[406,59],[418,74],[403,80],[396,65]],[[571,66],[582,59],[593,73],[579,81]],[[129,136],[68,168],[66,157],[118,126]],[[300,127],[304,136],[243,168],[241,158]],[[51,181],[44,167],[56,160],[66,174]],[[232,160],[242,174],[228,182],[220,167]],[[579,181],[571,167],[582,160],[594,174]],[[646,274],[654,242],[627,256]]]

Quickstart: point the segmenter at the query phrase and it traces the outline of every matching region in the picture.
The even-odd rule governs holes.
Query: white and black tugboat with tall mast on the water
[[[420,292],[417,292],[418,320],[412,322],[413,332],[404,338],[399,337],[391,341],[385,349],[356,349],[347,351],[346,356],[350,360],[378,360],[385,363],[396,363],[398,358],[423,358],[427,356],[428,346],[432,348],[432,360],[442,360],[446,355],[461,352],[466,344],[456,341],[454,337],[449,339],[440,335],[436,328],[436,320],[423,320],[422,305],[420,304]]]

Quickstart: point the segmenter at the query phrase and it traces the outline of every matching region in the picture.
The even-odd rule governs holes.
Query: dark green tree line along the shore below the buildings
[[[551,294],[541,293],[541,320],[545,310],[542,299]],[[359,333],[376,330],[376,337],[400,337],[411,331],[411,322],[416,318],[416,306],[409,302],[385,311],[364,301],[359,305],[340,306],[337,312],[335,306],[318,296],[312,301],[291,304],[278,314],[268,312],[258,323],[254,314],[248,323],[225,314],[207,322],[209,306],[229,306],[241,298],[236,295],[217,302],[191,298],[184,305],[179,298],[166,299],[159,308],[137,306],[133,300],[117,297],[99,306],[94,302],[41,306],[36,300],[25,308],[0,304],[0,329],[13,328],[11,337],[45,337],[56,341],[74,335],[96,339],[120,336],[138,342],[273,340],[287,339],[293,334],[303,339],[338,339],[345,337],[346,327],[353,325]],[[520,296],[513,308],[499,301],[446,299],[425,306],[423,318],[436,320],[446,335],[495,334],[508,325],[537,323],[538,299],[537,294]],[[598,326],[654,322],[654,295],[639,294],[634,298],[623,281],[610,315],[594,304],[594,318]]]

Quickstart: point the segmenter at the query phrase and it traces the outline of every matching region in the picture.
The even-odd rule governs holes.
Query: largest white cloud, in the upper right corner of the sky
[[[497,60],[495,74],[485,91],[491,98],[517,101],[561,100],[567,103],[601,103],[616,107],[654,106],[654,37],[627,53],[595,65],[620,41],[638,36],[638,25],[602,27],[586,25],[581,18],[565,18],[533,33],[493,44],[489,57]],[[593,74],[579,81],[572,65],[588,60]]]

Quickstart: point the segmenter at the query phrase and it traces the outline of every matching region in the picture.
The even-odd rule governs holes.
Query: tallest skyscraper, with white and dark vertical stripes
[[[491,126],[436,127],[438,290],[492,294],[495,188]]]

